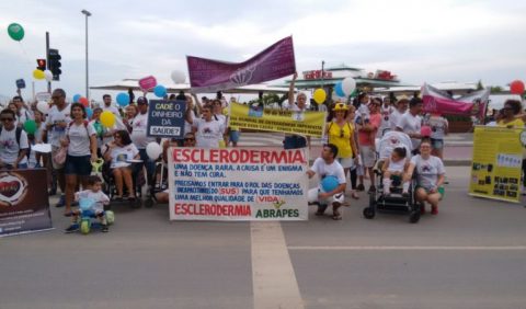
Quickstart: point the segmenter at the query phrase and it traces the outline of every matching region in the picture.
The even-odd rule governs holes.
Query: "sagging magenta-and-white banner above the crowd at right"
[[[466,115],[483,118],[490,90],[480,90],[454,99],[448,93],[428,84],[422,87],[424,113],[441,113],[444,115]]]

